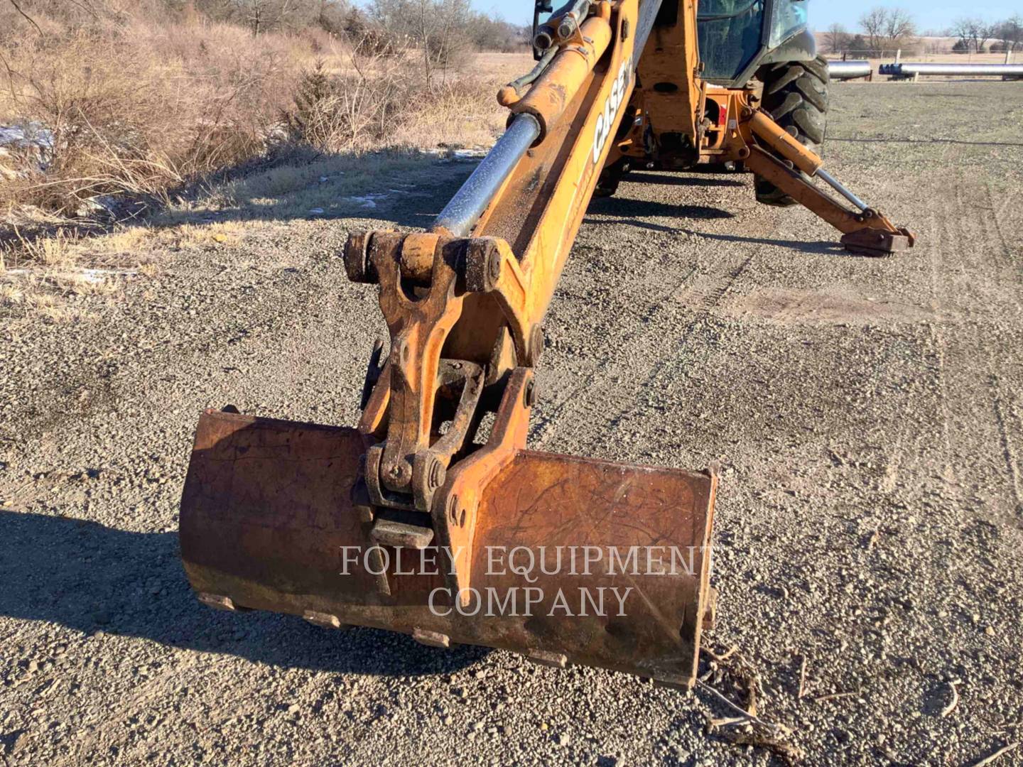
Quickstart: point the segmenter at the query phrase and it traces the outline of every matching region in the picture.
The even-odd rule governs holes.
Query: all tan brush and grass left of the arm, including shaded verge
[[[74,298],[120,280],[89,269],[144,276],[159,269],[153,254],[234,247],[274,222],[409,193],[435,162],[416,150],[492,143],[505,123],[497,88],[532,65],[472,54],[427,78],[414,50],[356,52],[311,31],[254,38],[148,0],[104,3],[109,13],[75,18],[33,4],[37,32],[0,2],[0,125],[52,134],[48,147],[0,150],[4,315],[64,321]],[[322,122],[299,135],[317,70]],[[137,200],[147,215],[129,220]]]

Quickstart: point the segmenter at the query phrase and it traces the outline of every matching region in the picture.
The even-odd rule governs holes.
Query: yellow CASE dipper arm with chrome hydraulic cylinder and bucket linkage
[[[481,494],[525,447],[540,322],[659,7],[604,0],[555,11],[543,28],[542,71],[502,90],[507,131],[430,231],[355,233],[346,245],[349,276],[380,285],[391,333],[360,424],[359,507],[377,543],[428,546],[436,534],[453,552],[450,586],[459,592],[470,584]],[[523,81],[531,87],[520,95]],[[477,449],[488,400],[497,420]]]

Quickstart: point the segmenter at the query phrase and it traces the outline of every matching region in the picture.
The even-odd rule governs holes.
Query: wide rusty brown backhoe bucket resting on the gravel
[[[205,413],[180,523],[199,599],[693,684],[713,472],[521,450],[483,491],[472,585],[453,598],[443,547],[367,537],[352,501],[364,452],[353,428]]]

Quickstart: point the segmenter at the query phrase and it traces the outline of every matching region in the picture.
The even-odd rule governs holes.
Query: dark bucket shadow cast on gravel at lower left
[[[132,533],[84,520],[0,511],[0,615],[104,631],[285,668],[427,676],[491,650],[425,647],[375,629],[330,631],[294,616],[219,613],[185,580],[176,533]]]

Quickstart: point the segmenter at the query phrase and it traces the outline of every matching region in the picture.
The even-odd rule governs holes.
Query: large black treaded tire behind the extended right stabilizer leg
[[[767,70],[763,108],[803,146],[821,153],[828,129],[828,60],[786,61]],[[790,164],[791,165],[791,164]],[[757,201],[787,208],[796,200],[774,184],[757,177]]]

